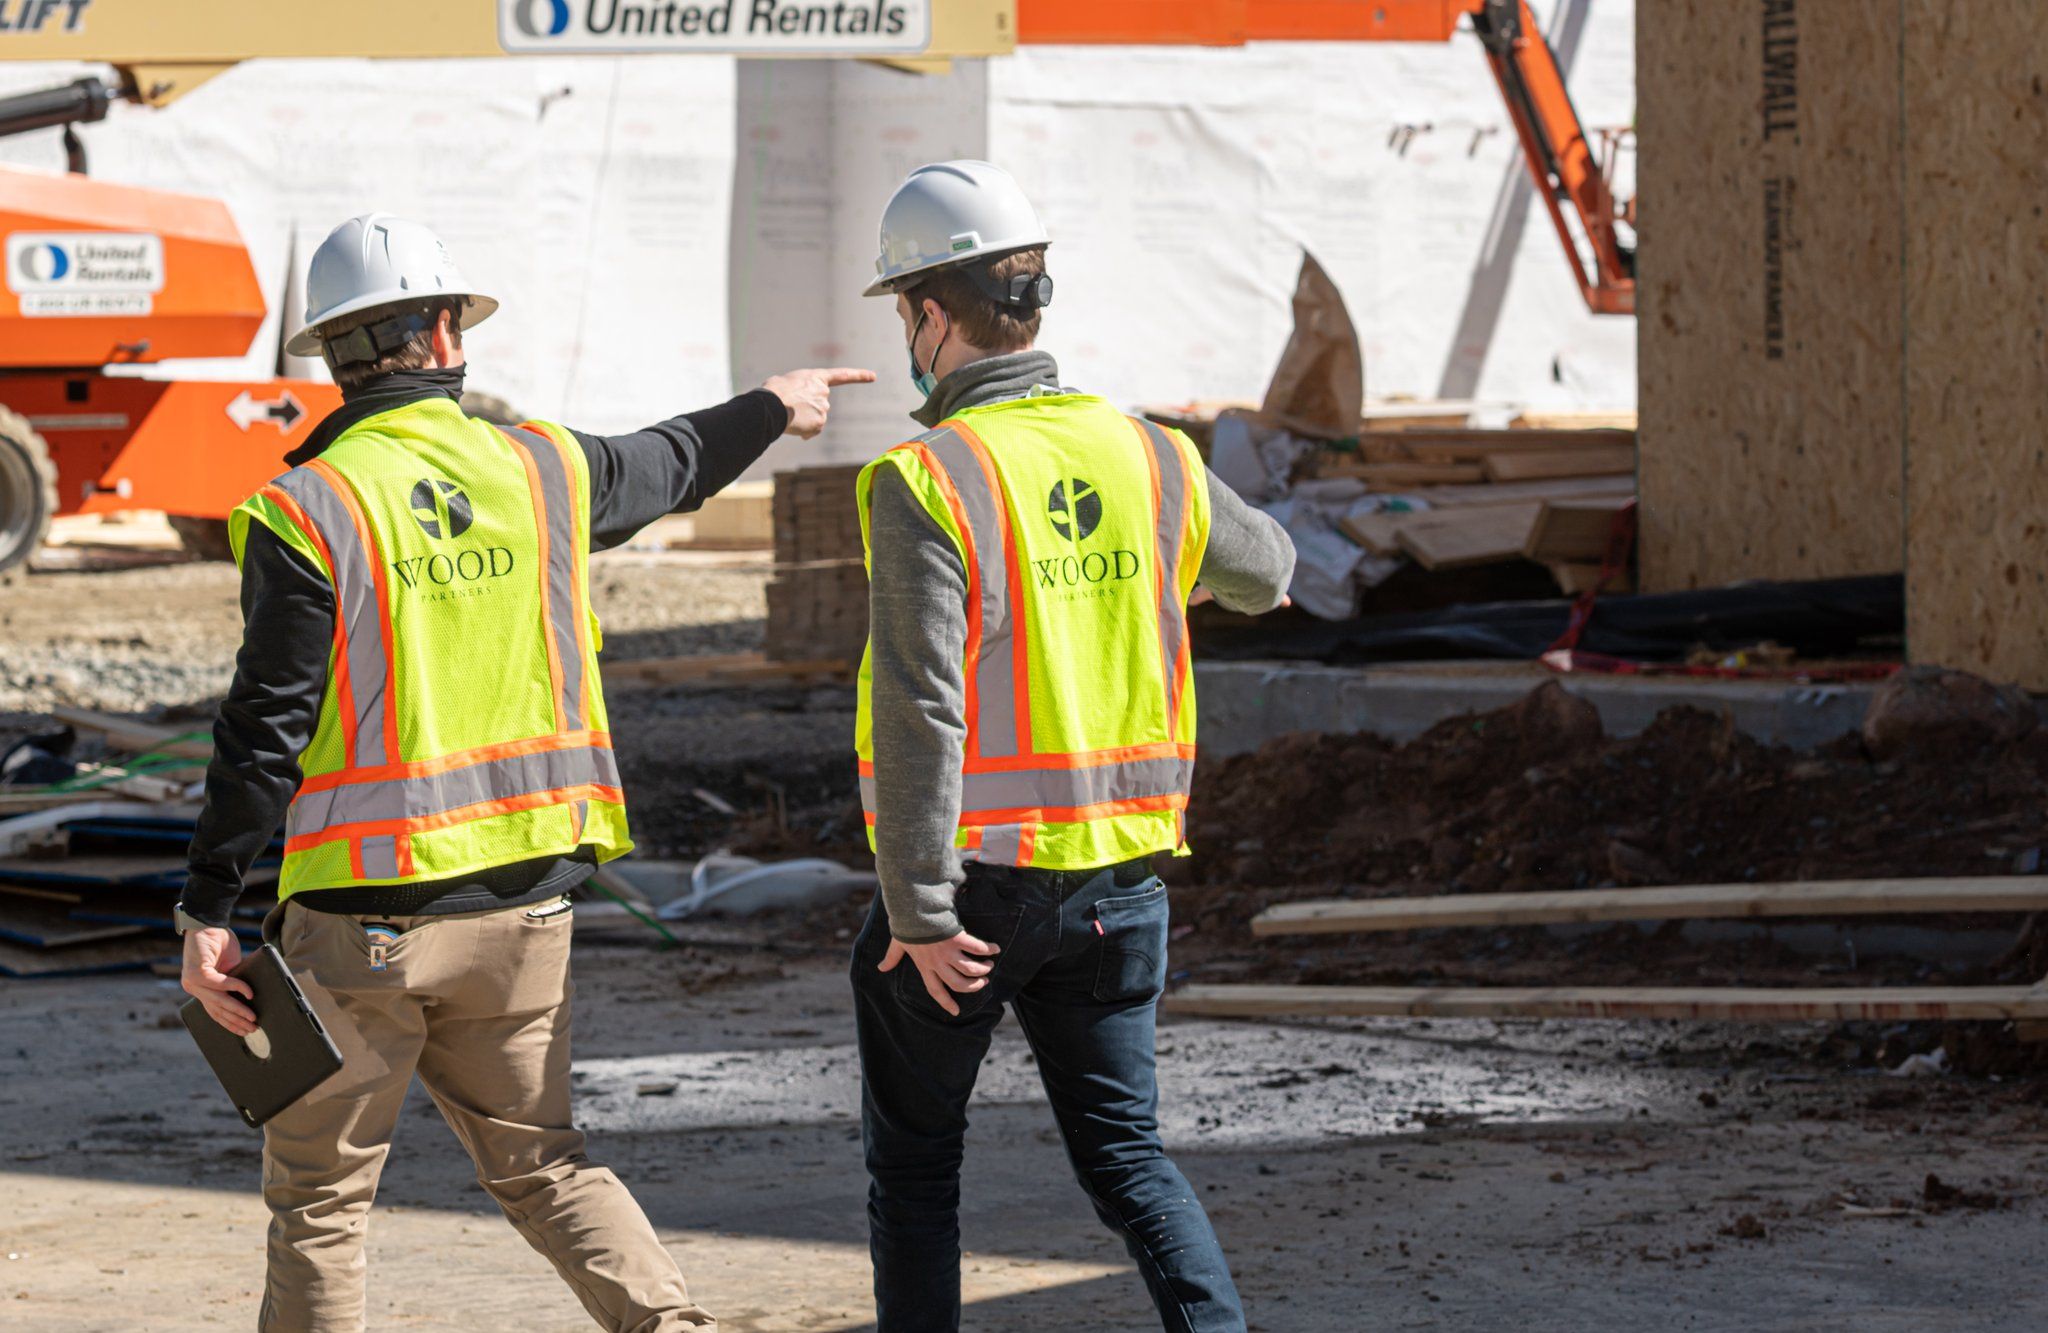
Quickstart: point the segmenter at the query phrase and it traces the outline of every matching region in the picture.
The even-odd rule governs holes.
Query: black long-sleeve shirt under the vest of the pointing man
[[[459,387],[457,387],[459,391]],[[317,457],[344,430],[424,397],[455,397],[446,377],[393,375],[328,416],[291,465]],[[590,549],[629,541],[664,514],[686,514],[731,485],[788,428],[774,393],[739,397],[623,436],[571,432],[590,463]],[[299,756],[313,739],[334,645],[334,586],[262,524],[242,555],[242,651],[213,725],[207,805],[188,852],[182,907],[225,926],[250,864],[299,790]],[[588,852],[537,858],[424,885],[326,889],[299,899],[322,911],[428,915],[516,907],[555,897],[592,868]]]

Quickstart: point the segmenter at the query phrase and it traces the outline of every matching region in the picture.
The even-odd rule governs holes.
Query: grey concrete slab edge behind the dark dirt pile
[[[1288,731],[1374,731],[1407,741],[1460,713],[1503,708],[1556,680],[1599,708],[1610,735],[1634,735],[1665,708],[1726,713],[1759,741],[1800,749],[1864,723],[1874,684],[1559,676],[1540,663],[1401,663],[1370,668],[1298,661],[1204,661],[1194,668],[1204,754],[1243,754]]]

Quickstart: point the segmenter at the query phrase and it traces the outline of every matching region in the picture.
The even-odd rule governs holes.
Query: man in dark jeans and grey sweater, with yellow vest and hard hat
[[[1243,1333],[1223,1247],[1159,1145],[1151,860],[1188,850],[1190,596],[1272,610],[1294,549],[1186,436],[1059,387],[1034,350],[1044,254],[1008,174],[940,162],[889,201],[866,291],[895,297],[926,399],[926,434],[856,487],[881,895],[852,971],[879,1329],[961,1325],[967,1098],[1012,1005],[1163,1327]]]

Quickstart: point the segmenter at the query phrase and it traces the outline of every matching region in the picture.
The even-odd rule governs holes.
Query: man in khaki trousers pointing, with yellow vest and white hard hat
[[[362,1329],[362,1235],[414,1075],[477,1179],[604,1329],[713,1329],[569,1114],[569,899],[623,856],[588,553],[692,510],[834,385],[795,371],[627,436],[467,416],[463,330],[498,309],[426,227],[371,213],[313,254],[297,356],[344,405],[229,518],[246,620],[178,905],[184,989],[229,977],[250,864],[344,1067],[264,1124],[276,1333]]]

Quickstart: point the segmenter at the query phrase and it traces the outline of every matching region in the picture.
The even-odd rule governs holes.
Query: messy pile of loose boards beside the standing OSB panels
[[[1372,555],[1423,569],[1532,559],[1565,592],[1597,582],[1616,514],[1636,496],[1632,430],[1374,430],[1313,467],[1415,502],[1339,524]]]

